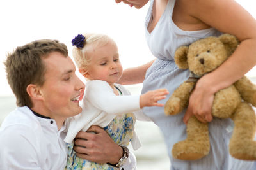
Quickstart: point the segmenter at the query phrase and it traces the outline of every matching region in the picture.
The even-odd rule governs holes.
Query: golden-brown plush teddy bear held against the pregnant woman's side
[[[235,36],[222,34],[177,48],[175,63],[180,69],[189,69],[191,76],[170,96],[164,105],[164,113],[176,115],[187,108],[196,81],[225,62],[238,45],[239,41]],[[256,142],[253,141],[256,117],[251,104],[256,106],[256,86],[246,76],[214,94],[212,116],[231,118],[234,121],[229,153],[241,160],[256,160]],[[186,128],[187,138],[173,145],[173,157],[180,160],[196,160],[207,155],[211,142],[208,124],[191,117]]]

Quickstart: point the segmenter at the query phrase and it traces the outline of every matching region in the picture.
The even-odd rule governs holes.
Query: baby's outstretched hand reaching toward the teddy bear
[[[145,106],[164,106],[164,104],[157,103],[157,101],[166,98],[166,94],[169,94],[167,89],[157,89],[141,94],[140,108],[144,108]]]

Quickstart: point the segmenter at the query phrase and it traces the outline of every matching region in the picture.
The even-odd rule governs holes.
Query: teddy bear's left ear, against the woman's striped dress
[[[180,69],[188,69],[188,46],[180,46],[175,52],[175,63]]]

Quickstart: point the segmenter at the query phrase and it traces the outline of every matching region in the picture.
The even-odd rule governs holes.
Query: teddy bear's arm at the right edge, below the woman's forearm
[[[237,80],[234,85],[244,101],[256,106],[256,85],[254,85],[252,81],[246,76],[243,76],[243,78]]]

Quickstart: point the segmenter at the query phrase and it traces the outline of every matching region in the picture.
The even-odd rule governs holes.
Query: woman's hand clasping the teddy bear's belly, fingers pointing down
[[[214,92],[211,90],[211,85],[208,85],[204,77],[200,78],[189,98],[188,110],[183,122],[187,124],[192,115],[195,115],[200,122],[211,122],[213,100]]]

